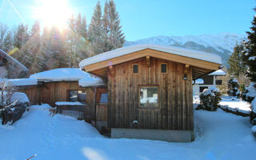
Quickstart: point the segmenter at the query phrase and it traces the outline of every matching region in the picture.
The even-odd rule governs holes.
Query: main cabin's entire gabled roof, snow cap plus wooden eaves
[[[222,58],[217,54],[159,45],[122,47],[91,58],[86,58],[80,62],[79,66],[86,70],[86,72],[106,77],[110,66],[146,57],[160,58],[189,65],[193,70],[193,79],[219,70],[222,66]]]

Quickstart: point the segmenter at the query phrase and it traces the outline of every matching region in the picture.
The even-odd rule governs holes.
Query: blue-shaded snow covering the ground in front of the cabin
[[[256,142],[249,118],[194,111],[194,142],[105,138],[90,124],[31,106],[13,126],[0,126],[0,159],[252,159]]]

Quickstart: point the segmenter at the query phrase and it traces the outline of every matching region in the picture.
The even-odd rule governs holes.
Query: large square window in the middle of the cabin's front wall
[[[143,86],[140,89],[140,107],[158,107],[158,87]]]

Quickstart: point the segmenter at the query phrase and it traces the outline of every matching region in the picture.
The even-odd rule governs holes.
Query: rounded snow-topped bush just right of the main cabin
[[[218,103],[222,100],[220,90],[216,87],[211,87],[202,91],[200,94],[200,105],[197,110],[210,110],[214,111],[218,108]]]

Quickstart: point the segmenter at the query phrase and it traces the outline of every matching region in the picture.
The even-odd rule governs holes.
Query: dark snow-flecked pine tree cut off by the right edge
[[[254,8],[256,11],[256,8]],[[245,50],[242,53],[242,62],[246,66],[246,76],[252,82],[256,82],[256,16],[254,16],[251,31],[246,32],[248,41],[245,42]]]

